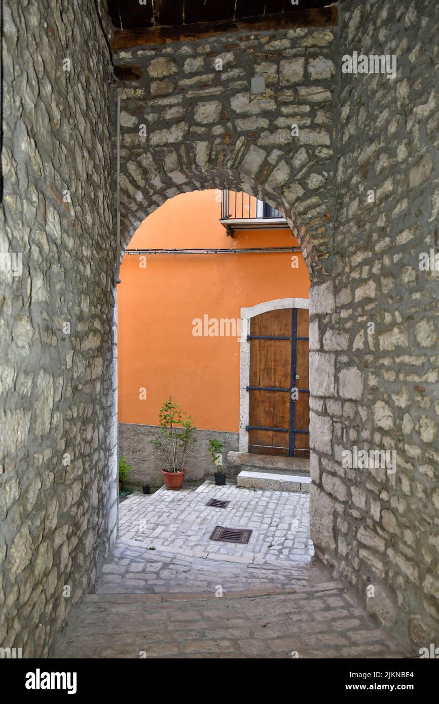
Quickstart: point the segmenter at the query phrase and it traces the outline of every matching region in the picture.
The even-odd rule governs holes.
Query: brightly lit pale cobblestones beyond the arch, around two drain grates
[[[211,498],[230,503],[226,508],[206,506]],[[209,539],[216,525],[252,529],[252,536],[247,545],[216,543]],[[120,505],[119,537],[147,548],[259,565],[309,563],[314,555],[306,494],[209,481],[197,489],[162,487],[149,497],[131,496]]]

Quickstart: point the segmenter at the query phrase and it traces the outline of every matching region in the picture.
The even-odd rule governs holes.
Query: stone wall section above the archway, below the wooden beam
[[[123,245],[166,199],[228,187],[279,208],[310,276],[323,275],[333,221],[333,42],[332,28],[298,27],[115,51],[125,82]],[[255,76],[266,80],[263,94],[249,90]]]

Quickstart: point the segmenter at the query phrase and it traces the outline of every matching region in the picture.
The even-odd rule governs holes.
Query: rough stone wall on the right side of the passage
[[[310,297],[311,536],[417,646],[439,631],[439,274],[419,270],[438,246],[438,32],[435,3],[341,5],[340,59],[395,54],[397,75],[340,74],[333,279]],[[395,450],[396,472],[342,467],[354,446]]]

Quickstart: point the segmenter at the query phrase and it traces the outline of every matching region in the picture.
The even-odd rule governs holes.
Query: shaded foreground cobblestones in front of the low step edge
[[[313,567],[307,567],[313,570]],[[331,580],[268,596],[92,594],[51,658],[402,658]]]

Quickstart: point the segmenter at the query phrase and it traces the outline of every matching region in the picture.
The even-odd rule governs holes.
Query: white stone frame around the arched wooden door
[[[268,310],[283,310],[284,308],[308,308],[308,298],[276,298],[275,301],[257,303],[252,308],[241,308],[241,370],[240,370],[240,452],[249,451],[249,434],[245,429],[249,425],[249,392],[250,384],[250,319]]]

